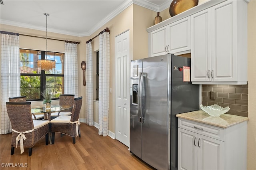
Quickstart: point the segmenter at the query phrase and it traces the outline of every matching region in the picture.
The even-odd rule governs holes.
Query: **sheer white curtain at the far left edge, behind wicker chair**
[[[20,96],[19,46],[18,34],[1,32],[1,134],[12,132],[6,101]]]

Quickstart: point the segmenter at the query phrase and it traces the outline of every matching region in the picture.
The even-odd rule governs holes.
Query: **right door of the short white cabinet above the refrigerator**
[[[182,51],[190,50],[190,16],[168,25],[168,34],[169,53],[180,53]]]

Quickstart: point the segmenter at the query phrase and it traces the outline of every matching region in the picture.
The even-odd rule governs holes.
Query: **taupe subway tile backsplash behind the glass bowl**
[[[210,91],[215,92],[215,100],[210,99]],[[248,117],[247,85],[202,85],[202,105],[229,106],[227,114]]]

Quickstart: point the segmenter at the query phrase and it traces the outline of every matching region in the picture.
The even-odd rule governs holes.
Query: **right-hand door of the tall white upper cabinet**
[[[212,77],[213,81],[237,81],[236,8],[233,1],[226,1],[212,10]]]

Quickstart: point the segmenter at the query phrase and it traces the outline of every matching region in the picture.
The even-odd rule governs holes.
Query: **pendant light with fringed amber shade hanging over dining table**
[[[41,70],[49,71],[55,68],[55,60],[47,59],[47,16],[50,14],[44,13],[46,16],[46,59],[38,59],[37,65]]]

